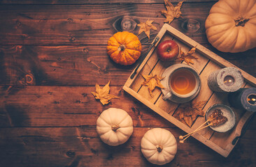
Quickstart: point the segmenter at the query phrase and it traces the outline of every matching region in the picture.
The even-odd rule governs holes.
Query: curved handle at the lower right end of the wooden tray
[[[253,111],[247,111],[241,120],[239,120],[239,123],[237,124],[237,127],[241,128],[236,128],[236,133],[235,133],[235,138],[232,141],[232,145],[236,145],[236,143],[239,141],[239,138],[245,134],[246,130],[248,129],[251,120],[253,120],[253,117],[255,116],[255,112]]]

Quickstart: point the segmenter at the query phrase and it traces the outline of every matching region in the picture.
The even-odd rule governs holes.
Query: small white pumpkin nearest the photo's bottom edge
[[[141,139],[141,152],[152,164],[167,164],[176,155],[176,138],[166,129],[150,129]]]

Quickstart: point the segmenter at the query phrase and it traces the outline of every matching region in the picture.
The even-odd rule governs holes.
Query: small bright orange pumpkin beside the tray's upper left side
[[[108,40],[108,55],[115,63],[131,65],[141,56],[141,42],[133,33],[115,33]]]

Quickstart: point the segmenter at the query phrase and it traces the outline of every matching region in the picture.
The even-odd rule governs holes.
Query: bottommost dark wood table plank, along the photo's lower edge
[[[147,127],[135,127],[129,141],[111,147],[104,144],[96,127],[0,128],[2,166],[154,166],[141,153]],[[166,128],[178,140],[180,129]],[[171,163],[165,166],[254,166],[255,130],[248,130],[227,159],[189,138]]]

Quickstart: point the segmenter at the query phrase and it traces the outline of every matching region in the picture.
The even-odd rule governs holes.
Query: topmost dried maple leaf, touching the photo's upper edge
[[[170,24],[173,21],[173,19],[180,17],[180,8],[183,5],[183,1],[180,1],[178,5],[175,7],[168,0],[164,0],[164,4],[167,10],[162,10],[161,13],[166,17],[164,22],[168,22]]]

